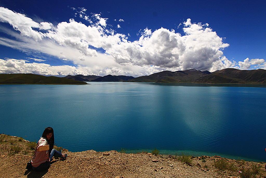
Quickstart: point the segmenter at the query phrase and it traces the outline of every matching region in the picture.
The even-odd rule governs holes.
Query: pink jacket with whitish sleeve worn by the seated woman
[[[48,143],[47,140],[43,137],[41,137],[40,140],[38,141],[37,146],[35,148],[34,156],[31,160],[32,166],[38,167],[38,166],[40,166],[41,163],[44,163],[46,161],[50,161],[49,150],[37,151],[37,149],[40,146],[48,145],[47,143]]]

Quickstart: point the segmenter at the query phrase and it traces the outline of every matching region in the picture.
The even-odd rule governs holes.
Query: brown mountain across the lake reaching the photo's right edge
[[[202,76],[195,83],[266,83],[266,70],[223,69]]]

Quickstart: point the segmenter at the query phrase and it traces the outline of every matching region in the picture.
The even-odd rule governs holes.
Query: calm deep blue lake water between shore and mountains
[[[265,87],[88,83],[0,85],[0,133],[38,141],[51,126],[72,152],[156,148],[266,161]]]

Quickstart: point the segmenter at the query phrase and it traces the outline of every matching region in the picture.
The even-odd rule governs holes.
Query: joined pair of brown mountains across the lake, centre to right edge
[[[213,73],[196,69],[184,71],[162,71],[148,76],[141,76],[127,82],[157,83],[266,83],[266,70],[223,69]]]

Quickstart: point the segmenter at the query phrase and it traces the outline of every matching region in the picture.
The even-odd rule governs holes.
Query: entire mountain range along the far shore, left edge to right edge
[[[162,71],[151,75],[132,77],[125,75],[67,75],[66,77],[36,74],[0,74],[0,84],[87,84],[86,82],[154,82],[154,83],[245,83],[266,84],[266,70],[222,69],[215,72],[189,69]]]

